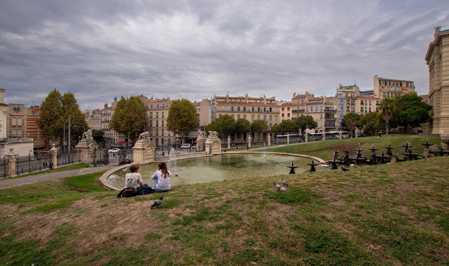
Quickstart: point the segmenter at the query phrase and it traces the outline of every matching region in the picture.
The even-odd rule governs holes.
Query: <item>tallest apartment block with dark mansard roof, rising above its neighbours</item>
[[[392,98],[401,94],[409,94],[415,92],[414,82],[410,80],[389,79],[374,76],[374,97],[383,100],[384,98]]]

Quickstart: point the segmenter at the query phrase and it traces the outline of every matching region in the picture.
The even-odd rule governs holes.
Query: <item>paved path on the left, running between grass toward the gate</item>
[[[25,176],[25,177],[0,180],[0,189],[14,187],[14,186],[20,186],[20,185],[25,185],[25,184],[30,184],[30,183],[35,183],[35,182],[40,182],[40,181],[45,181],[45,180],[74,176],[74,175],[79,175],[79,174],[88,174],[88,173],[93,173],[93,172],[97,172],[97,171],[101,171],[101,170],[112,169],[115,167],[117,167],[115,164],[110,163],[105,166],[80,168],[80,169],[75,169],[75,170],[66,170],[66,171],[61,171],[61,172],[36,174],[36,175],[30,175],[30,176]]]

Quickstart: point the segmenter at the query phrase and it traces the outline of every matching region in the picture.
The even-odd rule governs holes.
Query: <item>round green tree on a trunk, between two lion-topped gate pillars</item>
[[[199,127],[199,113],[187,99],[174,100],[168,112],[167,130],[180,135],[184,144],[185,135]]]

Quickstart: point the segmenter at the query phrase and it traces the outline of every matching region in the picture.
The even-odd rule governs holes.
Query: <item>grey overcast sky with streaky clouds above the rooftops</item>
[[[35,105],[53,88],[81,109],[114,96],[333,96],[373,76],[413,80],[447,0],[2,0],[0,87]]]

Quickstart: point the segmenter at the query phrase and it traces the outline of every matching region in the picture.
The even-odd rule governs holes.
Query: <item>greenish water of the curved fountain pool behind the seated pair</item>
[[[264,158],[266,156],[266,158]],[[172,173],[170,183],[172,185],[184,185],[195,183],[207,183],[223,181],[225,179],[238,179],[242,177],[251,178],[258,176],[288,174],[292,157],[277,154],[221,154],[211,157],[196,157],[189,159],[178,159],[168,161],[168,170]],[[309,158],[293,157],[293,163],[298,167],[298,173],[309,169],[307,163]],[[176,165],[176,166],[175,166]],[[151,175],[158,170],[158,163],[142,165],[139,173],[142,175],[143,183],[153,187],[154,181]],[[317,170],[327,170],[318,167]],[[116,188],[124,187],[125,175],[129,168],[119,170],[111,174],[108,183]],[[175,176],[178,174],[178,176]]]

